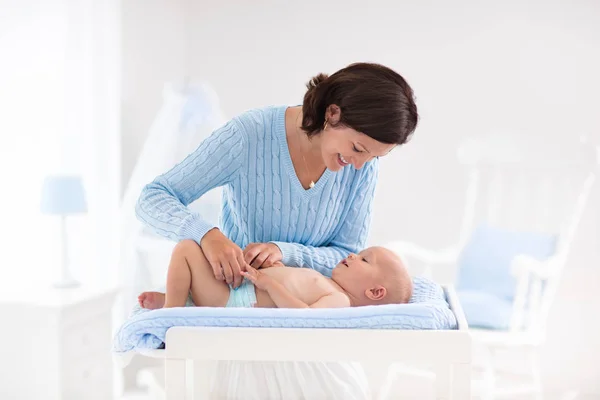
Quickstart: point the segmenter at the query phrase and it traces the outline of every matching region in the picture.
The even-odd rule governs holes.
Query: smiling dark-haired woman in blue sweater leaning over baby
[[[302,106],[247,111],[147,185],[138,218],[200,244],[215,277],[234,287],[246,263],[329,276],[364,246],[378,161],[414,132],[413,91],[391,69],[352,64],[307,84]],[[223,187],[219,227],[187,205]]]

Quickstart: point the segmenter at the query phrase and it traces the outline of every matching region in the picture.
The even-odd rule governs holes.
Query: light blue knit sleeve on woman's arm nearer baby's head
[[[272,242],[283,254],[282,263],[292,267],[307,267],[331,276],[331,271],[349,253],[363,250],[369,235],[372,204],[379,174],[379,161],[365,166],[346,217],[341,221],[330,242],[321,247],[299,243]]]

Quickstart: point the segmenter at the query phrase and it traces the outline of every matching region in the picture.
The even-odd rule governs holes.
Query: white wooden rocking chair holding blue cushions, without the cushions
[[[464,219],[454,246],[432,251],[401,241],[388,244],[407,261],[420,262],[425,273],[440,283],[452,283],[459,289],[456,281],[461,252],[474,228],[482,222],[504,229],[556,235],[555,251],[547,259],[526,254],[512,258],[510,273],[515,288],[507,329],[470,329],[473,343],[478,346],[475,350],[483,350],[485,355],[483,386],[474,389],[484,399],[524,394],[541,399],[538,349],[545,339],[548,313],[599,161],[596,148],[585,139],[571,140],[575,143],[567,145],[526,139],[523,135],[495,133],[459,147],[459,162],[468,171],[469,183]],[[446,277],[439,278],[440,275]],[[521,377],[527,380],[525,384],[502,387],[501,373],[514,373],[514,369],[502,371],[496,356],[515,350],[526,357],[521,366],[525,365],[527,371]]]

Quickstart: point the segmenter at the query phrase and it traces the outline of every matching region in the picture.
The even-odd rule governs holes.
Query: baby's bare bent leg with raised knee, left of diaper
[[[190,290],[196,306],[224,307],[229,300],[229,286],[215,278],[200,246],[183,240],[173,249],[164,306],[183,307]]]

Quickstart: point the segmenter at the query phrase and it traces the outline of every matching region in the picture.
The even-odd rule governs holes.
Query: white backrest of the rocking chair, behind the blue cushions
[[[595,179],[598,150],[585,138],[557,143],[494,132],[464,142],[458,158],[469,176],[461,248],[481,224],[556,235],[553,274],[521,285],[515,294],[510,327],[543,334],[560,272]]]

